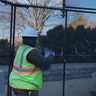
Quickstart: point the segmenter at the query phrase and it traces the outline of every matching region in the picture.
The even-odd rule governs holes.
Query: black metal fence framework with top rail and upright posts
[[[96,9],[93,8],[82,8],[82,7],[70,7],[66,6],[65,0],[62,1],[63,7],[62,8],[56,8],[56,7],[47,7],[47,6],[36,6],[36,5],[25,5],[25,4],[17,4],[12,3],[7,0],[0,0],[0,2],[4,3],[5,5],[11,6],[11,18],[10,18],[10,59],[9,59],[9,71],[12,69],[12,63],[14,58],[14,39],[15,39],[15,23],[16,23],[16,8],[17,7],[25,7],[25,8],[43,8],[43,9],[50,9],[50,10],[61,10],[63,12],[63,17],[65,18],[65,30],[67,32],[67,17],[68,12],[82,12],[82,13],[90,13],[90,14],[96,14]],[[66,34],[64,35],[64,44],[66,43]],[[65,46],[66,48],[66,46]],[[63,96],[64,96],[64,88],[65,88],[65,68],[66,68],[66,61],[65,57],[63,56]],[[8,86],[8,94],[7,96],[11,96],[11,89]]]

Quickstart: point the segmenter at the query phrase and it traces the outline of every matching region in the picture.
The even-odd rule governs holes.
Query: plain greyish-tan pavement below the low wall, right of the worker
[[[63,81],[44,82],[39,94],[40,96],[96,96],[95,92],[96,86],[92,78],[82,78],[66,80],[64,91]],[[15,95],[12,93],[12,96]]]

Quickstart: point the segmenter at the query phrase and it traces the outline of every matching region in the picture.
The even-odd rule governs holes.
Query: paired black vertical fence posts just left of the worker
[[[9,75],[13,66],[14,59],[14,39],[15,39],[15,23],[16,23],[16,6],[11,6],[11,21],[10,21],[10,60],[9,60],[9,68],[8,68],[8,90],[7,96],[11,96],[11,88],[9,86]]]

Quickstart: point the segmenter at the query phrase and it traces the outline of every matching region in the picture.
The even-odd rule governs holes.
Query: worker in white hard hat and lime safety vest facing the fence
[[[16,96],[39,96],[42,88],[42,71],[50,68],[55,53],[44,49],[45,56],[35,47],[38,35],[31,27],[22,32],[22,41],[16,52],[9,76],[9,85]]]

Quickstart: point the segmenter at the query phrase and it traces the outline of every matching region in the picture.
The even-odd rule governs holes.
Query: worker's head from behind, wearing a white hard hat
[[[21,36],[23,38],[23,44],[27,44],[32,47],[36,46],[38,35],[34,28],[31,28],[31,27],[25,28]]]

